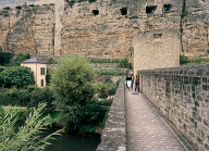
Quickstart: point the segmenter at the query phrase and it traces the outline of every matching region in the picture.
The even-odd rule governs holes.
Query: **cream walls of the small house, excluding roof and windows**
[[[29,67],[34,73],[35,85],[41,87],[41,79],[44,79],[44,87],[46,86],[47,65],[40,63],[22,63],[21,66]],[[40,68],[45,68],[45,75],[40,75]]]

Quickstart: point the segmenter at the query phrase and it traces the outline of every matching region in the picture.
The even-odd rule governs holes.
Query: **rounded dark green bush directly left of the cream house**
[[[24,66],[8,67],[0,73],[0,78],[3,80],[1,86],[4,88],[24,88],[28,85],[34,85],[33,73]]]

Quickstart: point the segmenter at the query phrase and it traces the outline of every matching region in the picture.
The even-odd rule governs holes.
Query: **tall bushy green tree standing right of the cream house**
[[[88,60],[82,55],[71,55],[59,61],[51,75],[51,86],[61,111],[58,124],[65,129],[76,129],[84,118],[85,108],[94,96],[95,73]]]

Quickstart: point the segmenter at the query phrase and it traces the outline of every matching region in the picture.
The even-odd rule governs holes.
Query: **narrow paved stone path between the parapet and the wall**
[[[190,151],[140,93],[125,90],[127,151]]]

